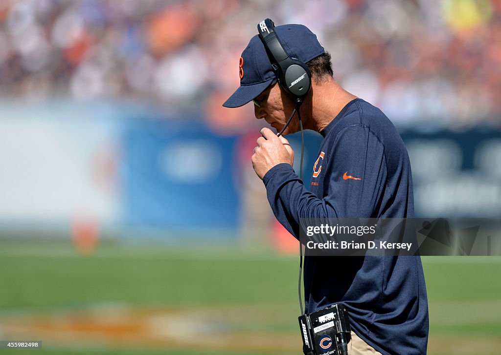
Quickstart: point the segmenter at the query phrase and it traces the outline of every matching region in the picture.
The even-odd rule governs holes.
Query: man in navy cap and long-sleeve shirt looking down
[[[299,238],[300,218],[413,217],[412,176],[404,143],[378,108],[333,78],[330,54],[307,27],[275,27],[289,55],[306,62],[312,87],[300,113],[304,127],[324,140],[310,191],[292,168],[284,137],[263,128],[252,162],[277,219]],[[265,47],[253,37],[240,58],[240,87],[223,104],[250,100],[255,115],[280,131],[295,102],[276,82]],[[300,129],[297,117],[284,135]],[[420,258],[414,256],[305,257],[305,310],[342,302],[349,312],[349,353],[425,354],[428,304]]]

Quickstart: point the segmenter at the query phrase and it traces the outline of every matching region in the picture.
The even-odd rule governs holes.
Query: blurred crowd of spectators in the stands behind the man
[[[2,0],[0,100],[112,100],[255,128],[221,103],[257,24],[303,23],[396,124],[501,122],[501,0]]]

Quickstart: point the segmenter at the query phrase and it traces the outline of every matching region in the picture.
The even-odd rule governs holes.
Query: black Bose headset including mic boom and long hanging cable
[[[282,42],[280,41],[277,32],[275,31],[275,24],[270,18],[261,21],[258,24],[258,33],[263,44],[265,45],[266,52],[272,63],[273,70],[277,75],[278,83],[283,87],[286,92],[296,102],[296,108],[292,111],[291,116],[287,120],[284,128],[277,134],[281,136],[289,123],[291,123],[294,114],[298,112],[299,125],[301,127],[301,166],[299,170],[300,179],[303,181],[303,155],[305,150],[305,134],[303,131],[303,122],[301,121],[301,114],[299,108],[303,99],[308,94],[311,88],[312,73],[310,68],[301,60],[290,56],[285,50]],[[301,241],[299,243],[299,305],[301,314],[304,315],[303,301],[301,297],[301,274],[303,270],[303,246]]]

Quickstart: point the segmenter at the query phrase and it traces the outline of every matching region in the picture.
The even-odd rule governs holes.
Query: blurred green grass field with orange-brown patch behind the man
[[[237,246],[107,242],[84,257],[70,242],[0,239],[0,339],[11,339],[5,338],[5,329],[43,339],[41,349],[0,353],[299,354],[300,348],[292,350],[294,342],[301,341],[298,264],[297,257]],[[423,265],[430,307],[428,353],[499,353],[501,258],[423,257]],[[188,332],[198,329],[207,339],[190,347],[171,340],[155,343],[156,338],[148,339],[144,332],[144,340],[132,341],[134,333],[124,328],[130,319],[149,312],[148,321],[158,321],[157,309],[164,328],[171,326],[172,315]],[[115,336],[113,341],[101,336],[94,341],[92,329],[82,330],[84,325],[73,320],[83,318],[92,327],[89,322],[102,325],[110,321],[108,314],[118,321],[125,313],[131,318],[123,319],[124,327],[103,325]],[[53,333],[46,332],[49,328]],[[67,328],[80,332],[66,334]],[[117,335],[117,329],[122,333]],[[270,336],[278,340],[271,342]],[[209,341],[211,337],[219,339],[218,344]],[[242,339],[238,346],[233,346],[235,339]],[[282,350],[281,339],[292,339],[292,344]],[[229,345],[220,346],[224,341]]]

